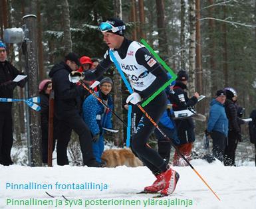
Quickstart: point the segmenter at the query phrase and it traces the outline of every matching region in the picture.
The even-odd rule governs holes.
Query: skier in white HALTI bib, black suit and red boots
[[[144,117],[144,114],[136,105],[140,104],[142,100],[148,99],[166,84],[168,81],[166,71],[144,45],[125,37],[126,25],[122,20],[115,17],[107,19],[100,23],[99,30],[103,35],[103,41],[108,46],[108,50],[106,50],[103,60],[95,70],[84,74],[84,80],[100,78],[114,62],[110,53],[111,56],[114,56],[116,63],[119,64],[122,72],[128,76],[134,89],[134,92],[126,99],[126,104],[133,105],[133,129],[136,130],[132,135],[131,149],[156,176],[155,182],[150,187],[152,189],[149,191],[147,186],[144,190],[145,192],[160,191],[162,196],[168,196],[174,192],[179,174],[154,149],[147,146],[148,139],[155,126]],[[144,109],[158,123],[166,110],[166,104],[166,94],[161,92]],[[136,128],[138,123],[140,123],[140,128]],[[173,180],[171,181],[170,178]]]

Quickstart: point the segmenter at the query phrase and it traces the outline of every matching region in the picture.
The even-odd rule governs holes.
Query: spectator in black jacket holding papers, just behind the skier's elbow
[[[169,97],[174,111],[193,107],[197,104],[197,98],[199,97],[199,94],[195,92],[192,98],[188,98],[188,94],[186,92],[188,74],[186,71],[180,70],[177,75],[178,78],[174,86],[174,94]],[[175,123],[178,130],[178,138],[180,139],[180,145],[177,147],[183,155],[190,159],[193,141],[195,141],[195,126],[193,124],[193,119],[192,117],[176,119]],[[174,165],[187,165],[187,163],[178,155],[177,151],[174,153]]]

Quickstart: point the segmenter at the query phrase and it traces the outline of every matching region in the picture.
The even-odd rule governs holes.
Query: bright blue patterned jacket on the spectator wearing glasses
[[[102,99],[100,94],[100,91],[96,92],[96,95]],[[113,101],[110,95],[108,96],[107,105],[110,107],[110,109],[113,109]],[[104,105],[98,102],[98,100],[93,95],[88,96],[88,98],[84,100],[84,104],[82,104],[82,117],[86,125],[88,125],[92,135],[96,135],[98,133],[102,135],[104,133],[102,127],[112,129],[111,116],[111,111],[106,109],[104,112]]]

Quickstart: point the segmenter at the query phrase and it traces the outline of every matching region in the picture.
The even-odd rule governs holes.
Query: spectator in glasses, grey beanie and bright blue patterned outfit
[[[113,100],[110,96],[113,82],[110,78],[105,77],[100,81],[100,90],[96,92],[104,104],[113,109]],[[102,128],[112,129],[111,117],[112,113],[104,105],[102,105],[95,96],[90,95],[82,105],[82,115],[84,122],[88,125],[92,134],[92,149],[96,161],[104,167],[105,161],[102,161],[101,156],[104,151],[104,133]]]

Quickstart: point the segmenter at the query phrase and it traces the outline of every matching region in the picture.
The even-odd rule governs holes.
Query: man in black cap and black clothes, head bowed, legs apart
[[[77,70],[79,65],[78,55],[70,52],[65,57],[65,62],[55,64],[49,73],[55,90],[55,115],[58,119],[57,163],[58,165],[68,165],[66,148],[73,129],[79,136],[84,165],[100,167],[101,165],[95,161],[92,154],[90,130],[79,115],[80,96],[85,94],[86,90],[68,79],[70,72]]]

